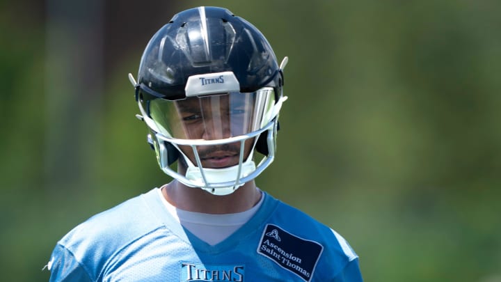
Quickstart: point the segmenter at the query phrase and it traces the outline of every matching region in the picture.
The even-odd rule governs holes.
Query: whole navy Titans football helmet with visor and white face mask
[[[262,173],[276,152],[286,62],[225,8],[175,15],[146,46],[137,81],[129,75],[161,169],[216,195]],[[181,172],[170,168],[177,160]]]

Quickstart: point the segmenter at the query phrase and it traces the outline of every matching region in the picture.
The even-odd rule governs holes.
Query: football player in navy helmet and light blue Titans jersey
[[[343,237],[255,185],[275,157],[286,63],[225,8],[161,27],[129,79],[173,181],[65,235],[51,281],[362,281]]]

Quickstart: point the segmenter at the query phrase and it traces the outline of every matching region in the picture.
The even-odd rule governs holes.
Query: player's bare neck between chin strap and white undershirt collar
[[[261,192],[254,180],[226,196],[215,196],[199,188],[186,187],[173,180],[162,187],[166,200],[181,210],[207,214],[230,214],[244,212],[260,201]]]

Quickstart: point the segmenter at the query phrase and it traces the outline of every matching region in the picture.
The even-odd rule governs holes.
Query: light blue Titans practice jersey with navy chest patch
[[[65,235],[50,281],[362,281],[358,256],[339,234],[269,194],[211,246],[179,224],[156,190]]]

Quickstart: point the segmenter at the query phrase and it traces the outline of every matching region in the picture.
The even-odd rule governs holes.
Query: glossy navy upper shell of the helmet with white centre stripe
[[[271,86],[281,95],[283,75],[276,56],[253,24],[225,8],[191,8],[175,15],[148,42],[138,91],[151,98],[182,99],[190,76],[227,71],[234,73],[241,92]]]

